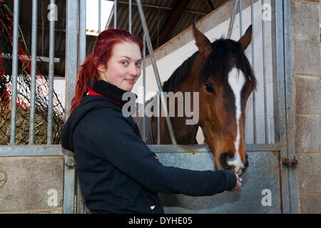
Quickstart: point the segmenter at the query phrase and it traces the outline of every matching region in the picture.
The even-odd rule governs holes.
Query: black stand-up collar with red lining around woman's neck
[[[90,84],[91,84],[90,81],[88,81],[87,83],[88,88],[90,88]],[[94,92],[92,94],[98,93],[96,95],[103,95],[104,97],[115,101],[118,105],[121,105],[121,107],[128,102],[128,100],[122,99],[123,94],[132,93],[131,91],[123,90],[103,80],[94,81],[93,86],[90,89]],[[137,95],[135,93],[133,94],[137,98]]]

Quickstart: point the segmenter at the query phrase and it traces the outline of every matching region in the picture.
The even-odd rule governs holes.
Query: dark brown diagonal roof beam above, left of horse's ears
[[[185,10],[187,9],[190,0],[177,0],[173,10],[165,21],[163,28],[159,31],[158,38],[153,41],[153,48],[158,48],[163,43],[168,41],[170,33],[172,33],[178,21],[183,16]]]

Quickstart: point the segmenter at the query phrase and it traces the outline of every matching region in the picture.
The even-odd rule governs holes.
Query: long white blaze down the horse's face
[[[234,67],[230,73],[228,73],[228,83],[232,88],[235,97],[235,118],[238,133],[235,138],[235,157],[233,160],[228,161],[228,165],[235,165],[235,172],[238,172],[240,167],[244,167],[243,162],[240,160],[240,116],[242,113],[241,109],[241,91],[245,84],[245,76],[242,71]]]

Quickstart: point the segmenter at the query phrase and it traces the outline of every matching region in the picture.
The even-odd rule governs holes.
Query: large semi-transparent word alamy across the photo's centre
[[[141,90],[138,90],[139,92]],[[193,95],[192,95],[193,94]],[[139,93],[138,93],[139,95]],[[158,93],[159,95],[159,93]],[[199,92],[162,92],[165,106],[168,107],[168,116],[169,117],[186,117],[186,125],[195,125],[199,120]],[[193,96],[193,111],[191,110],[191,97]],[[145,107],[145,113],[143,112],[143,108],[140,108],[137,112],[136,110],[136,95],[131,92],[127,92],[123,94],[123,100],[128,100],[128,102],[123,105],[123,116],[133,116],[133,117],[143,117],[146,115],[147,117],[165,117],[167,113],[160,108],[160,99],[158,96],[154,96],[152,102],[147,103]],[[175,99],[177,99],[177,110],[175,109]],[[177,115],[176,115],[177,113]]]

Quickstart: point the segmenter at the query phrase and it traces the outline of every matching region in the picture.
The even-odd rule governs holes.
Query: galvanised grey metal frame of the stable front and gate
[[[101,0],[100,0],[101,1]],[[144,46],[147,45],[148,51],[151,56],[151,63],[156,75],[156,81],[158,83],[159,91],[162,91],[161,80],[159,78],[155,56],[153,54],[153,48],[151,45],[151,38],[149,37],[148,28],[146,26],[145,17],[143,14],[143,8],[141,1],[137,0],[138,11],[141,16],[141,22],[143,25]],[[55,3],[51,0],[51,3]],[[264,3],[264,0],[263,0]],[[242,1],[235,1],[235,10],[233,13],[233,20],[231,20],[232,28],[236,9],[240,4],[242,9]],[[253,0],[252,0],[253,4]],[[32,46],[36,45],[36,6],[37,0],[33,0],[33,36]],[[115,1],[114,18],[116,18],[116,6]],[[129,6],[131,7],[131,1]],[[282,163],[284,158],[291,160],[295,158],[295,132],[294,132],[294,111],[293,111],[293,96],[292,96],[292,31],[291,31],[291,1],[271,1],[272,6],[272,56],[274,56],[273,67],[273,90],[274,90],[274,110],[275,114],[275,143],[273,144],[250,144],[245,145],[247,152],[255,151],[278,151],[280,152],[280,191],[282,192],[281,203],[283,213],[298,213],[297,207],[297,182],[296,182],[296,170],[290,165]],[[73,98],[76,86],[76,73],[78,66],[86,58],[86,0],[68,0],[67,1],[67,24],[66,24],[66,108],[70,110],[71,99]],[[131,9],[131,8],[130,8]],[[100,10],[99,10],[100,11]],[[78,12],[75,13],[75,12]],[[241,11],[240,11],[241,12]],[[241,16],[240,16],[241,19]],[[129,20],[131,21],[131,10],[129,14]],[[12,98],[13,104],[16,99],[16,78],[17,78],[17,50],[18,50],[18,26],[19,26],[19,0],[14,0],[14,44],[13,44],[13,63],[12,63]],[[54,68],[54,21],[51,21],[50,27],[50,42],[51,51],[49,69]],[[264,22],[263,22],[264,23]],[[131,26],[131,23],[129,23]],[[116,27],[116,20],[114,22]],[[263,25],[264,26],[264,25]],[[241,27],[241,26],[240,26]],[[232,29],[231,27],[229,29]],[[242,28],[240,28],[242,30]],[[131,28],[129,28],[131,31]],[[75,45],[77,43],[78,45]],[[34,55],[36,48],[32,48],[32,60],[34,61]],[[145,53],[143,53],[145,57]],[[35,62],[35,61],[34,61]],[[35,66],[34,63],[31,63]],[[144,64],[145,66],[145,64]],[[53,71],[49,71],[49,78],[53,76]],[[31,77],[35,78],[35,68],[31,69]],[[143,70],[143,77],[145,77],[145,70]],[[33,80],[35,80],[33,78]],[[51,82],[52,81],[52,82]],[[52,88],[53,80],[49,79],[49,88]],[[35,86],[35,83],[33,84]],[[144,90],[145,92],[145,90]],[[52,90],[50,91],[52,93]],[[164,100],[164,99],[161,99]],[[163,104],[163,103],[162,103]],[[11,108],[11,137],[10,145],[0,146],[0,157],[24,157],[24,156],[65,156],[64,166],[64,185],[63,185],[63,213],[84,213],[86,211],[83,206],[83,199],[81,196],[79,185],[76,185],[76,169],[73,164],[73,155],[63,150],[61,145],[15,145],[15,132],[16,132],[16,105],[12,105]],[[49,105],[50,106],[50,105]],[[51,101],[52,106],[52,101]],[[34,104],[31,104],[34,107]],[[165,105],[163,109],[167,111]],[[34,114],[33,114],[34,115]],[[31,117],[32,118],[32,117]],[[52,114],[49,115],[49,122],[51,122]],[[66,120],[68,118],[68,112],[66,111]],[[207,145],[177,145],[175,138],[173,137],[173,128],[171,128],[170,120],[167,119],[168,127],[170,129],[170,135],[173,139],[173,145],[148,145],[148,147],[157,153],[161,152],[210,152]],[[31,121],[32,126],[32,121]],[[50,125],[49,125],[50,127]],[[31,127],[32,135],[34,127]],[[32,138],[32,136],[30,137]],[[76,196],[76,205],[75,205]],[[76,210],[75,210],[76,207]]]

